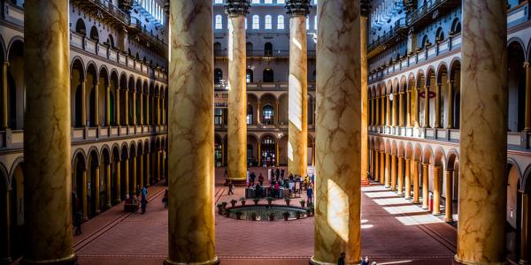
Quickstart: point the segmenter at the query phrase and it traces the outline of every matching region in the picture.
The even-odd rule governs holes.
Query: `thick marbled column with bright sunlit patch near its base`
[[[299,1],[287,1],[287,4]],[[304,1],[308,4],[310,1]],[[319,1],[316,213],[312,264],[359,263],[361,70],[359,1]],[[333,218],[330,218],[334,216]]]

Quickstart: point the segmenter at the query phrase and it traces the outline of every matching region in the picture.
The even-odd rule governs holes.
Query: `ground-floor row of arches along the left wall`
[[[165,137],[133,140],[112,146],[78,148],[72,158],[72,213],[80,210],[85,219],[119,204],[142,186],[167,176]],[[24,161],[19,157],[12,170],[0,164],[0,258],[16,259],[24,247]],[[8,225],[9,222],[9,225]],[[5,254],[3,251],[8,251]],[[6,256],[7,255],[7,256]]]

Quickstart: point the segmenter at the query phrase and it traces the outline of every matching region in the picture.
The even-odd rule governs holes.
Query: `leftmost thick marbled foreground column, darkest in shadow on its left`
[[[26,251],[20,264],[74,264],[68,1],[27,0],[24,19]]]

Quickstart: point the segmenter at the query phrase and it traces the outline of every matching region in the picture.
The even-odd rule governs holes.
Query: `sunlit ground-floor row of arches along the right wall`
[[[436,216],[443,215],[446,222],[458,221],[458,149],[370,137],[368,169],[373,181],[396,191],[397,195],[429,208]],[[519,261],[523,249],[531,243],[523,229],[531,223],[531,218],[525,214],[531,209],[526,199],[531,195],[531,165],[520,170],[519,163],[509,158],[506,172],[506,252]],[[428,203],[430,200],[433,206]]]

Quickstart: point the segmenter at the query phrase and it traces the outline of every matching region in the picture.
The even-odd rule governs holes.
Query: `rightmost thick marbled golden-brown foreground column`
[[[463,1],[461,140],[456,261],[505,261],[507,11],[505,1]],[[489,143],[489,144],[486,144]]]

